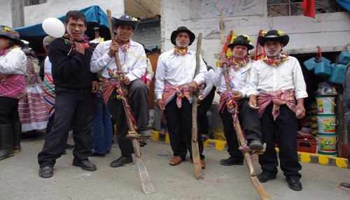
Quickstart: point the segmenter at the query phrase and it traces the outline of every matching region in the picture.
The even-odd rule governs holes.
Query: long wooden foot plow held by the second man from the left
[[[111,34],[111,40],[112,40],[112,43],[116,43],[116,36],[114,35],[114,31],[113,31],[111,10],[106,10],[106,13],[107,13],[107,17],[109,20],[109,32]],[[120,65],[118,52],[114,52],[114,58],[116,59],[118,72],[123,72],[122,67]],[[111,75],[113,76],[114,79],[116,79],[119,82],[122,79],[118,74],[113,73],[113,71],[112,71]],[[122,90],[122,89],[118,88],[118,90]],[[137,167],[139,169],[142,188],[143,188],[145,194],[153,194],[153,193],[155,193],[155,187],[154,187],[153,183],[151,182],[150,176],[148,175],[148,171],[146,169],[144,159],[142,159],[142,157],[141,157],[140,145],[139,145],[139,140],[138,140],[139,134],[137,134],[137,131],[135,130],[135,127],[134,127],[134,122],[132,121],[132,118],[130,117],[131,111],[130,111],[130,108],[127,106],[128,105],[127,104],[127,102],[128,102],[127,97],[125,97],[123,93],[120,94],[120,96],[121,96],[120,99],[122,99],[122,101],[123,101],[125,116],[127,117],[127,125],[129,127],[129,132],[127,135],[128,135],[128,138],[131,138],[132,146],[134,147],[134,152],[135,152],[135,157],[137,160]]]

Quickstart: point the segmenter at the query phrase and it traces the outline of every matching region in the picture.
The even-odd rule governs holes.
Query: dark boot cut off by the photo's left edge
[[[13,133],[11,124],[0,124],[0,159],[13,156]]]

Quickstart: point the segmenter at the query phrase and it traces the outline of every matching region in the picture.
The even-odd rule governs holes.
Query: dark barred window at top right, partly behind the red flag
[[[267,0],[269,17],[303,15],[302,0]],[[315,13],[336,13],[346,11],[335,0],[316,0]]]

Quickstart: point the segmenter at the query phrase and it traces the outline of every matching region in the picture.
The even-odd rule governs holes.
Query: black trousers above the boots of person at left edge
[[[0,97],[0,124],[10,124],[20,122],[18,114],[19,99],[10,97]]]

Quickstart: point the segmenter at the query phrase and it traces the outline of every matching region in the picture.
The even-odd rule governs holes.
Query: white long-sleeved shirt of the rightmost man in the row
[[[292,89],[296,99],[306,98],[306,84],[301,66],[295,57],[288,58],[279,66],[268,65],[262,59],[254,62],[247,96],[251,94],[258,96],[258,90],[274,92]]]

